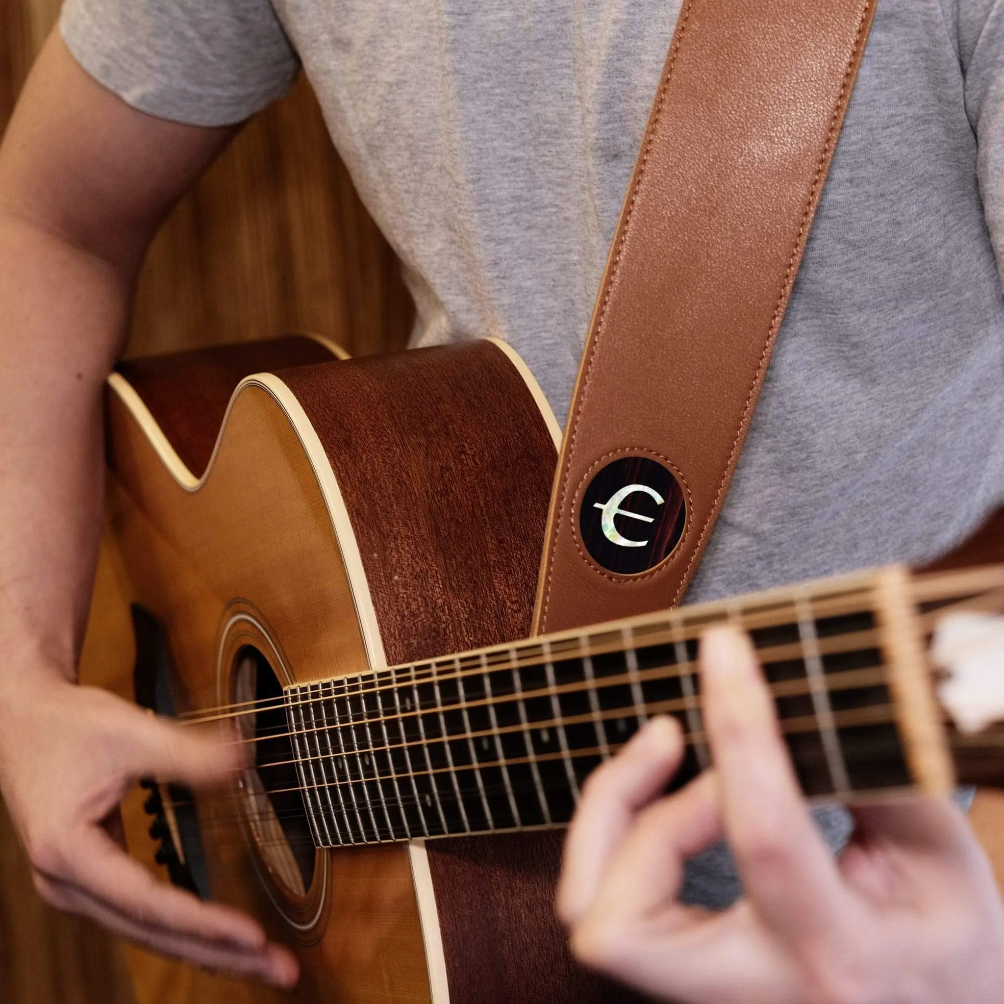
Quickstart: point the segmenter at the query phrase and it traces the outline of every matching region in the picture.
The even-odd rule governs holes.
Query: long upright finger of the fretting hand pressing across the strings
[[[727,626],[705,634],[701,686],[725,831],[747,894],[775,929],[812,936],[832,923],[846,891],[801,796],[745,635]]]

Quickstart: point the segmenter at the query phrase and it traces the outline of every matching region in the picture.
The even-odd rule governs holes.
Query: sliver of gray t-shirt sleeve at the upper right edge
[[[961,0],[959,48],[980,194],[1004,280],[1004,0]]]

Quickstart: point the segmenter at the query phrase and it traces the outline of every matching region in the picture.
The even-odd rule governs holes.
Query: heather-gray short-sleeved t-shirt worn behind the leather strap
[[[67,0],[61,23],[105,86],[186,122],[247,117],[302,63],[405,264],[415,342],[504,338],[562,418],[680,4]],[[688,600],[921,561],[1004,502],[995,247],[1004,0],[880,0]],[[692,873],[709,902],[734,894],[720,863]]]

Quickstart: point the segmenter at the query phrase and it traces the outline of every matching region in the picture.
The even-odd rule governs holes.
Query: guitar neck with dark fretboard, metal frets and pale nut
[[[287,688],[314,841],[563,825],[585,777],[654,715],[683,727],[685,784],[711,759],[698,641],[723,621],[750,633],[807,796],[948,790],[926,642],[938,610],[996,608],[1002,587],[1000,567],[886,569]]]

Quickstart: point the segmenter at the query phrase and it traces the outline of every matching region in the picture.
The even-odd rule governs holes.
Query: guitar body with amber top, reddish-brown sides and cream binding
[[[107,422],[109,564],[142,704],[165,711],[167,688],[170,710],[199,711],[530,632],[558,427],[504,346],[337,361],[291,338],[133,362]],[[98,622],[88,651],[114,644]],[[296,947],[291,999],[634,999],[567,953],[559,834],[305,852],[295,804],[245,788],[183,818],[157,796],[167,808],[127,806],[131,849],[151,857],[159,813],[176,880]]]

